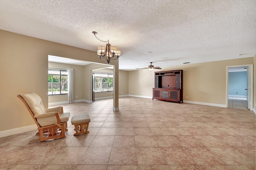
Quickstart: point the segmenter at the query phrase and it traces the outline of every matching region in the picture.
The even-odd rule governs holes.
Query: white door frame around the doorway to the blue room
[[[228,107],[228,68],[244,66],[248,66],[248,71],[250,72],[250,110],[253,111],[253,64],[226,66],[226,107]]]

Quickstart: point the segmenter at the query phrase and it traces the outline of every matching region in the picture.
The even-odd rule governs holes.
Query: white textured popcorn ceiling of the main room
[[[256,1],[0,0],[0,29],[95,52],[97,31],[121,70],[202,63],[255,55]]]

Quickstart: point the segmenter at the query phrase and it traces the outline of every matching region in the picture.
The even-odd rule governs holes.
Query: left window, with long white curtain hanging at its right
[[[68,71],[48,70],[48,95],[68,94]]]

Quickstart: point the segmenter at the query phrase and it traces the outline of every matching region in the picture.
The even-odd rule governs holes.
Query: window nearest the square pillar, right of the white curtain
[[[94,91],[95,92],[113,91],[113,74],[94,73]]]

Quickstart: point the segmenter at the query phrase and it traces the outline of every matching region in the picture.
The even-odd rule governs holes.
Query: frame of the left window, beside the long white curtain
[[[59,72],[59,74],[49,74],[49,71],[54,71],[54,72],[56,72],[56,71],[58,71]],[[61,72],[66,72],[66,74],[61,74]],[[65,83],[65,84],[67,84],[67,86],[68,86],[68,70],[65,70],[65,69],[58,69],[58,68],[48,68],[48,78],[49,78],[49,75],[51,75],[52,77],[51,77],[51,89],[52,89],[52,91],[51,91],[51,93],[52,94],[49,94],[49,79],[48,79],[48,96],[56,96],[56,95],[68,95],[68,90],[66,91],[66,93],[62,93],[62,76],[66,76],[67,77],[67,82]],[[59,81],[59,89],[60,89],[60,91],[59,91],[59,94],[54,94],[54,91],[53,91],[53,81],[54,81],[54,79],[53,79],[53,76],[54,75],[58,75],[58,76],[60,76],[60,81]],[[64,85],[65,85],[64,84]],[[64,86],[65,87],[65,86]],[[66,88],[66,89],[68,89],[68,87]]]

